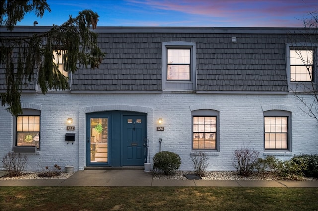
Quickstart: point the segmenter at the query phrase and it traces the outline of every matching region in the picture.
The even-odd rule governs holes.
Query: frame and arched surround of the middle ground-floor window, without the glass
[[[197,116],[205,116],[205,117],[216,117],[216,138],[215,138],[215,149],[197,149],[193,148],[193,117]],[[217,110],[210,110],[210,109],[201,109],[201,110],[193,110],[191,111],[191,149],[193,151],[208,151],[208,152],[219,152],[220,149],[220,119],[219,119],[219,111]]]

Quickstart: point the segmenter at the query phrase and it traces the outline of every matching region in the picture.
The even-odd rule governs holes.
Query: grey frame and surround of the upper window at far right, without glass
[[[306,92],[312,91],[312,83],[317,89],[318,82],[318,44],[315,43],[289,43],[286,45],[286,75],[288,90],[290,92]],[[292,81],[291,80],[291,50],[313,50],[313,68],[312,68],[312,81]]]

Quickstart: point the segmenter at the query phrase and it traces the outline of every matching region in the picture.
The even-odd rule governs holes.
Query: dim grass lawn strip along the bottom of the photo
[[[318,188],[1,187],[1,211],[317,211]]]

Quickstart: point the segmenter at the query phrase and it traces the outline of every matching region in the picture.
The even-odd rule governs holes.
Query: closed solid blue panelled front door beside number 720
[[[123,115],[122,122],[122,165],[143,165],[146,117],[145,115]]]

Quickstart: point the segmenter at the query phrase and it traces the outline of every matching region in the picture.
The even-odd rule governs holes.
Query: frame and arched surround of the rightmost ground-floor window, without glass
[[[287,148],[286,149],[267,149],[265,148],[265,117],[287,117]],[[271,151],[282,151],[282,152],[291,152],[292,151],[292,113],[285,110],[268,110],[263,112],[263,125],[264,125],[264,150],[266,152]]]

